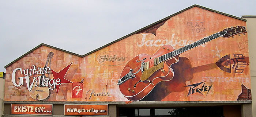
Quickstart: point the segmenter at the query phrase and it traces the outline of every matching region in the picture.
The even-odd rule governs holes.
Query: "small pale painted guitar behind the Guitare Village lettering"
[[[34,83],[32,90],[29,92],[30,97],[34,100],[45,100],[50,95],[49,87],[43,86],[43,81],[44,79],[48,79],[45,77],[45,70],[48,66],[49,60],[52,59],[53,55],[53,52],[49,52],[44,66],[43,74],[41,76],[38,76],[38,79],[40,79],[39,84]]]

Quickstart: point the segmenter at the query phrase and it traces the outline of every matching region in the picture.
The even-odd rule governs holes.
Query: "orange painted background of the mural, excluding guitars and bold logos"
[[[246,22],[199,7],[193,7],[163,22],[163,25],[155,31],[155,35],[148,32],[133,34],[83,58],[47,46],[41,46],[6,68],[4,100],[37,101],[31,98],[25,79],[23,79],[23,86],[14,86],[12,72],[16,68],[30,69],[33,65],[43,68],[48,53],[53,52],[50,69],[58,73],[72,63],[64,78],[73,83],[78,83],[83,79],[83,88],[80,90],[82,96],[79,94],[80,97],[74,98],[76,93],[74,90],[79,88],[73,90],[72,83],[62,83],[58,94],[56,89],[50,90],[49,97],[44,101],[129,101],[121,93],[119,89],[121,85],[117,85],[121,72],[128,61],[140,54],[154,55],[159,48],[162,49],[161,46],[163,45],[171,45],[175,49],[187,46],[231,26],[246,27]],[[241,94],[242,85],[246,87],[244,90],[249,95],[248,92],[251,89],[249,64],[237,68],[241,69],[239,72],[242,71],[242,73],[236,72],[238,63],[236,65],[231,63],[231,66],[235,66],[231,68],[231,73],[215,67],[215,63],[223,56],[230,55],[230,58],[233,59],[234,54],[249,56],[246,33],[245,35],[241,34],[241,36],[235,35],[234,38],[220,37],[180,54],[180,60],[182,61],[172,65],[175,77],[170,81],[154,84],[157,86],[150,94],[146,94],[147,96],[145,95],[146,97],[142,100],[234,101]],[[106,59],[102,58],[107,57],[107,55],[109,55],[108,60],[111,56],[116,55],[115,57],[119,61],[103,61]],[[223,66],[227,68],[227,66]],[[19,83],[18,77],[25,76],[17,71],[15,75],[16,83]],[[31,75],[30,80],[37,76],[38,74]],[[52,79],[54,76],[46,74],[46,77]],[[202,94],[199,92],[189,94],[190,88],[193,87],[188,85],[200,82],[203,82],[204,86],[212,86],[211,89],[201,91]],[[200,89],[203,83],[196,88]],[[209,89],[209,87],[207,88]],[[249,96],[245,96],[245,98],[250,100]]]

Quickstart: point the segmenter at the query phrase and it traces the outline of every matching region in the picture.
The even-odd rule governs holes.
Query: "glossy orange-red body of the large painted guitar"
[[[172,80],[174,72],[170,65],[178,62],[178,55],[160,62],[158,65],[154,65],[154,58],[158,58],[173,50],[174,48],[172,46],[164,45],[154,55],[140,54],[131,59],[125,65],[120,78],[123,78],[131,69],[133,73],[137,72],[140,66],[142,66],[142,62],[148,62],[148,69],[143,72],[139,71],[134,74],[134,78],[130,78],[120,84],[119,89],[121,93],[128,100],[139,101],[150,93],[159,82]]]

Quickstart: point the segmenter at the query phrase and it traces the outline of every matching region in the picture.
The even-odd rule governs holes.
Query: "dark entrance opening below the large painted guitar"
[[[224,117],[222,106],[184,108],[119,108],[119,117]]]

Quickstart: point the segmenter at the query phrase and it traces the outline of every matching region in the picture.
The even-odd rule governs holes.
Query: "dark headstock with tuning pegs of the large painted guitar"
[[[229,38],[231,36],[234,38],[234,35],[241,36],[240,35],[241,33],[245,35],[246,32],[247,31],[245,30],[244,26],[236,26],[236,27],[225,28],[223,31],[219,32],[219,35],[223,38]]]

